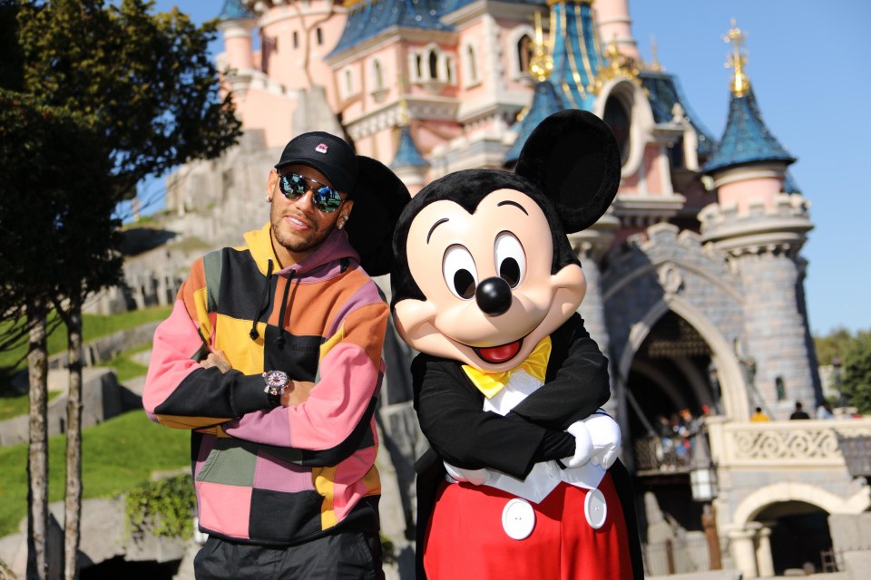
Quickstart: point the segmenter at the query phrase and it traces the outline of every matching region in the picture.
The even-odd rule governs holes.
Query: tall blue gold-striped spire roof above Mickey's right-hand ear
[[[587,91],[602,63],[590,4],[559,2],[551,6],[553,73],[549,82],[563,92],[573,109],[592,111],[595,95]]]

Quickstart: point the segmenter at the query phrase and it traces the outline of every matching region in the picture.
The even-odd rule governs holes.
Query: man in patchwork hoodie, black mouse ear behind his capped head
[[[269,223],[191,267],[142,402],[191,430],[198,580],[379,578],[389,308],[369,275],[390,271],[408,191],[317,131],[288,143],[266,193]]]

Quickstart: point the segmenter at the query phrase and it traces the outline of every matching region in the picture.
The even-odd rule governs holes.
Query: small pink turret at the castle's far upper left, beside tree
[[[225,0],[218,16],[218,28],[224,39],[223,64],[230,69],[226,79],[240,99],[251,81],[254,70],[254,53],[251,44],[251,31],[257,24],[241,0]]]

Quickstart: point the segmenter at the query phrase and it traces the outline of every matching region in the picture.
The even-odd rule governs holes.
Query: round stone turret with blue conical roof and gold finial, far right
[[[739,355],[748,373],[750,402],[758,397],[784,418],[794,401],[820,396],[816,355],[807,326],[803,289],[805,261],[798,255],[813,228],[809,203],[787,176],[796,159],[768,131],[759,111],[741,51],[745,36],[732,24],[734,69],[729,120],[703,171],[719,202],[702,209],[702,239],[724,251],[739,274],[744,294],[744,336]],[[754,401],[754,398],[757,400]]]

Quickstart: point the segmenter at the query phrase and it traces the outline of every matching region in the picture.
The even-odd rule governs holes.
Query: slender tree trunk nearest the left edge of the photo
[[[48,354],[43,304],[27,309],[30,436],[27,452],[27,580],[48,578]]]

